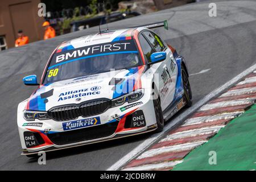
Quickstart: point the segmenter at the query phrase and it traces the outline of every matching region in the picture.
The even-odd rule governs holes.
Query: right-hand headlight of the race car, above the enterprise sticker
[[[132,93],[126,94],[124,96],[115,98],[112,100],[112,107],[116,107],[116,106],[121,106],[123,105],[125,102],[135,102],[140,100],[143,97],[144,94],[144,89],[138,89],[135,90]]]

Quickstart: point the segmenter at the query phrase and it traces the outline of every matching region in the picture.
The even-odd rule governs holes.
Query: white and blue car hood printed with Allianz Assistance
[[[144,66],[72,78],[40,85],[27,101],[27,110],[47,111],[55,106],[107,98],[109,100],[141,88]]]

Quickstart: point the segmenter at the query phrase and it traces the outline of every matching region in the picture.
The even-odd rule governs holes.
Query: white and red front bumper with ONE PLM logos
[[[141,100],[114,107],[105,113],[91,117],[100,119],[100,125],[65,130],[63,123],[51,119],[27,122],[18,112],[18,129],[23,155],[39,151],[53,151],[64,148],[104,142],[154,131],[157,128],[152,100]],[[116,114],[113,114],[116,113]],[[80,121],[78,118],[76,121]],[[37,119],[36,119],[37,120]],[[26,125],[24,125],[26,123]],[[33,125],[32,123],[37,123]],[[42,123],[42,125],[39,123]]]

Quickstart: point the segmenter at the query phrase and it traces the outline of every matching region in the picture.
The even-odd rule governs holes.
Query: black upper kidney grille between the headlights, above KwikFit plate
[[[82,102],[79,105],[73,104],[53,107],[48,111],[48,115],[52,119],[55,119],[55,121],[68,121],[80,116],[90,117],[104,113],[110,106],[110,100],[103,98]]]

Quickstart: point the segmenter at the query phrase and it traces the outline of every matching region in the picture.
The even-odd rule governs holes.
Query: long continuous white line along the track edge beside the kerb
[[[150,147],[152,143],[154,143],[156,140],[158,140],[163,135],[165,135],[170,129],[172,129],[176,125],[179,125],[181,122],[183,122],[183,120],[185,118],[187,118],[189,115],[191,115],[197,109],[199,109],[201,106],[203,106],[209,100],[211,100],[213,97],[216,97],[218,94],[220,94],[224,90],[228,89],[233,84],[236,84],[236,82],[238,80],[241,80],[246,75],[249,75],[249,73],[253,72],[255,69],[256,69],[256,64],[254,64],[250,68],[247,68],[245,71],[243,71],[236,77],[232,78],[231,80],[229,80],[224,85],[217,88],[216,90],[213,90],[213,92],[210,92],[207,96],[202,98],[200,101],[196,102],[196,104],[193,104],[185,112],[179,114],[175,119],[172,120],[172,122],[167,123],[167,125],[164,127],[164,130],[161,133],[154,134],[154,135],[151,135],[150,137],[148,137],[146,140],[144,140],[144,142],[139,144],[137,147],[135,147],[133,150],[131,150],[128,154],[126,154],[121,159],[119,159],[117,162],[115,162],[107,170],[115,171],[115,170],[120,169],[122,166],[124,166],[130,160],[132,160],[135,157],[137,157],[138,155],[140,155],[144,150],[146,150],[146,148]]]

